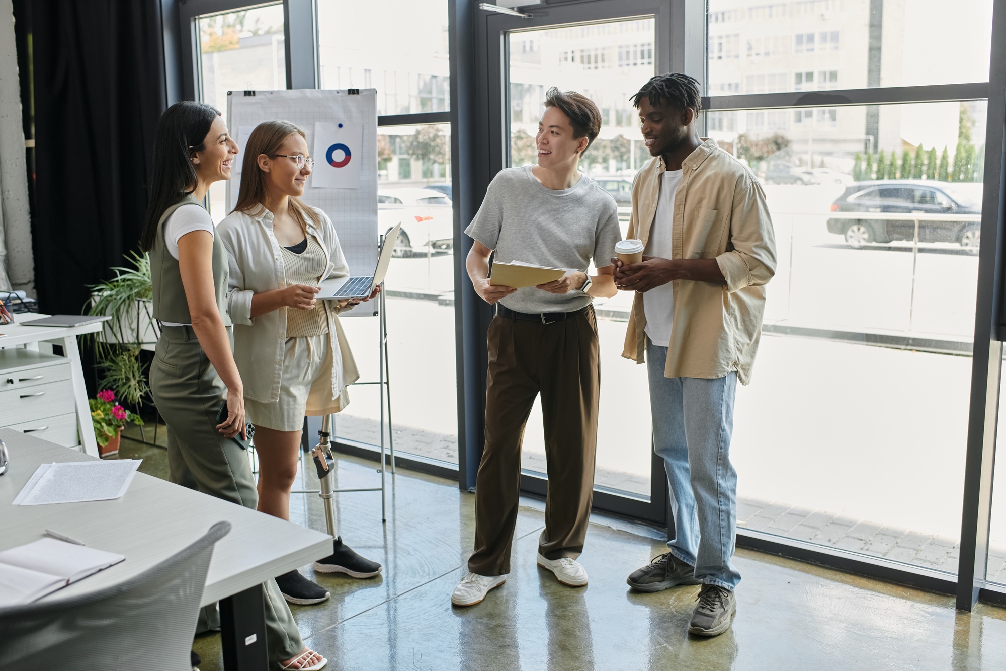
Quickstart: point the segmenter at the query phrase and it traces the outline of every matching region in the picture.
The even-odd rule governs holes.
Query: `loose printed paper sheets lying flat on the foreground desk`
[[[11,502],[14,506],[106,501],[126,494],[141,459],[42,463]]]

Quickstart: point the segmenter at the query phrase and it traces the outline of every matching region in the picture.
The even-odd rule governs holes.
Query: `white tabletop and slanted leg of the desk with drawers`
[[[102,322],[85,324],[82,326],[32,326],[34,319],[49,316],[39,313],[19,313],[14,318],[17,323],[0,325],[0,348],[22,347],[29,350],[52,353],[52,345],[62,348],[69,361],[69,384],[73,389],[73,401],[76,406],[76,424],[80,434],[81,446],[88,454],[98,456],[98,441],[95,439],[95,427],[91,422],[91,408],[88,405],[88,389],[83,382],[83,368],[80,366],[80,351],[76,348],[76,337],[83,333],[95,333],[102,329]],[[40,348],[39,346],[42,345]],[[4,422],[3,425],[6,425]]]

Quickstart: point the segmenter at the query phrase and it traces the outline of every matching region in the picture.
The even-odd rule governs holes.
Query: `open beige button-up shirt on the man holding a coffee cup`
[[[629,238],[647,244],[657,214],[664,160],[650,160],[636,175]],[[668,378],[721,378],[737,372],[742,384],[762,336],[765,285],[776,272],[776,239],[765,192],[733,156],[705,142],[682,162],[674,195],[672,255],[716,259],[726,285],[673,280],[674,316],[667,350]],[[622,356],[642,364],[646,350],[643,294],[629,316]]]

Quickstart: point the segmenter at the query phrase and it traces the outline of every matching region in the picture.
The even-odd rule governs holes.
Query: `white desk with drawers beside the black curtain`
[[[55,396],[64,395],[66,398],[62,400],[65,402],[65,407],[58,411],[53,410],[51,414],[55,415],[57,412],[60,414],[65,412],[65,416],[45,416],[44,419],[25,423],[25,420],[29,419],[29,417],[19,417],[19,412],[6,409],[5,405],[5,414],[7,416],[0,417],[0,426],[13,426],[18,430],[29,432],[50,430],[58,432],[60,434],[59,439],[65,434],[68,437],[63,440],[63,444],[67,446],[79,444],[85,452],[98,456],[98,441],[95,438],[95,428],[91,422],[91,408],[88,405],[88,390],[83,384],[83,368],[80,366],[80,352],[76,348],[76,337],[100,331],[103,327],[102,322],[95,321],[82,326],[70,327],[31,325],[32,320],[45,316],[48,315],[31,312],[18,313],[14,315],[17,323],[0,325],[0,333],[3,333],[3,337],[0,337],[0,348],[8,349],[2,358],[3,361],[0,362],[0,368],[11,367],[11,370],[19,370],[22,373],[25,370],[24,367],[37,368],[37,370],[31,370],[31,373],[34,375],[28,375],[27,379],[30,380],[36,376],[39,378],[44,377],[39,388],[43,388],[42,393],[49,394],[44,399],[40,398],[38,400],[48,402]],[[53,356],[53,345],[60,347],[62,354]],[[18,353],[15,348],[21,351]],[[66,363],[60,366],[60,359]],[[59,368],[67,366],[68,371],[65,375],[48,375],[47,377],[43,375],[49,372],[54,373]],[[43,371],[38,367],[47,367],[50,370]],[[46,381],[50,379],[56,380],[56,382],[47,384]],[[19,389],[17,375],[0,376],[0,392],[8,389],[10,390],[9,394],[19,395],[16,391]],[[25,388],[22,392],[25,394],[38,393],[38,389],[34,387]],[[56,401],[56,404],[59,405],[59,402]],[[74,410],[75,417],[71,414]],[[38,417],[43,417],[43,414],[38,415]],[[35,418],[31,417],[30,419]],[[54,426],[54,423],[65,423],[68,426]],[[73,431],[74,424],[76,425],[76,431]],[[44,426],[44,428],[39,428],[40,426]],[[79,443],[75,439],[76,435],[80,437]],[[53,437],[52,439],[55,440],[57,438]]]

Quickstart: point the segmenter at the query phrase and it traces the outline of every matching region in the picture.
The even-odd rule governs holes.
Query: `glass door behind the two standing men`
[[[601,110],[603,126],[579,168],[615,197],[625,236],[633,176],[650,158],[630,98],[657,72],[668,69],[667,14],[661,3],[601,1],[575,8],[549,6],[547,16],[490,17],[489,43],[501,45],[499,53],[489,54],[489,72],[500,74],[489,86],[490,109],[499,110],[492,133],[503,140],[494,167],[535,161],[534,136],[550,87],[588,96]],[[632,296],[619,292],[594,304],[603,380],[595,504],[662,521],[666,478],[663,464],[653,458],[646,368],[621,356]],[[522,487],[542,493],[540,401],[524,431],[521,466]]]

